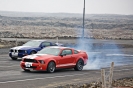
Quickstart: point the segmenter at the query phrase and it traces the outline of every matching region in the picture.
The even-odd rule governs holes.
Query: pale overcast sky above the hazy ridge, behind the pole
[[[0,0],[0,11],[83,13],[84,0]],[[133,0],[86,0],[86,14],[133,14]]]

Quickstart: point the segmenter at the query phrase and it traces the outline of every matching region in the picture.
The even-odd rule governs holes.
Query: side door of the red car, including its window
[[[75,58],[72,56],[71,49],[64,49],[61,52],[60,66],[70,66],[73,65]]]

